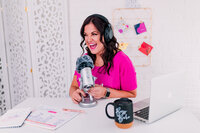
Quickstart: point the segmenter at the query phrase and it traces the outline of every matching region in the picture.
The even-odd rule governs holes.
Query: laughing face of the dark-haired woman
[[[104,51],[103,43],[100,41],[100,32],[93,23],[89,23],[84,28],[85,43],[92,54],[100,55]]]

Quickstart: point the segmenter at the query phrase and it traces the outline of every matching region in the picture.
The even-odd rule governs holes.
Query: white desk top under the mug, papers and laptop
[[[120,129],[115,126],[114,120],[109,119],[105,114],[106,104],[114,100],[103,99],[99,100],[95,107],[81,108],[79,105],[74,104],[70,98],[29,98],[18,104],[15,108],[51,105],[52,107],[81,109],[85,113],[81,113],[62,127],[53,131],[24,124],[21,128],[0,129],[0,133],[200,133],[200,121],[187,109],[180,109],[152,124],[145,124],[134,120],[131,128]],[[109,107],[109,112],[112,115],[112,107]]]

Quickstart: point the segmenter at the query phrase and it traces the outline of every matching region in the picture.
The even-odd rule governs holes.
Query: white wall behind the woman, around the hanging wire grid
[[[90,14],[100,13],[109,20],[115,8],[125,8],[127,0],[70,0],[69,24],[71,68],[81,54],[80,27]],[[140,0],[141,8],[152,8],[152,72],[168,73],[186,69],[188,84],[185,106],[200,118],[200,9],[198,0]]]

